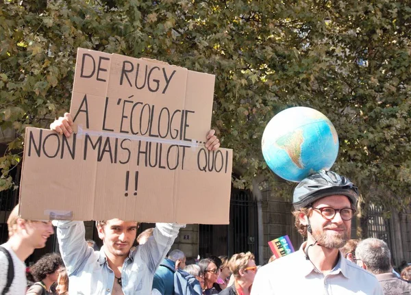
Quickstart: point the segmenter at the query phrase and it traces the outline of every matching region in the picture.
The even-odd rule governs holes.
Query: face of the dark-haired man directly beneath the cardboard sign
[[[127,256],[136,240],[137,222],[110,219],[99,226],[99,238],[106,251],[115,256]]]

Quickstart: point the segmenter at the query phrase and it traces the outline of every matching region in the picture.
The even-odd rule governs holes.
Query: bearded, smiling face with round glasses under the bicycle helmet
[[[340,211],[336,211],[335,216],[327,220],[321,216],[319,209],[323,207],[332,207],[334,209],[351,208],[351,203],[347,196],[334,195],[326,196],[316,201],[312,208],[310,224],[312,228],[312,238],[321,246],[326,248],[341,248],[351,237],[351,220],[343,220]],[[307,225],[307,217],[300,219],[303,225]],[[308,235],[310,235],[308,233]]]

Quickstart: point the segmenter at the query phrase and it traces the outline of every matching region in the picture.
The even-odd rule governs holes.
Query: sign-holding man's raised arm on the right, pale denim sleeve
[[[141,259],[145,261],[151,273],[154,273],[161,261],[166,257],[179,229],[186,225],[177,223],[156,223],[153,236],[140,246]]]

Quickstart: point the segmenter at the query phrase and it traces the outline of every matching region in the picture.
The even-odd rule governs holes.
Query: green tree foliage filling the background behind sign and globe
[[[213,126],[234,149],[239,187],[273,176],[260,149],[280,110],[323,112],[340,136],[334,170],[365,202],[410,204],[410,1],[12,1],[0,10],[0,126],[18,138],[0,186],[20,161],[25,127],[69,109],[77,47],[150,57],[216,75]]]

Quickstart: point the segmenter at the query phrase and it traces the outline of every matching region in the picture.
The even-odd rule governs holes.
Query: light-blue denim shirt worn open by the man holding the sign
[[[111,294],[114,272],[110,269],[103,248],[93,251],[84,238],[82,221],[54,221],[60,253],[67,274],[69,294]],[[133,247],[121,270],[125,295],[151,293],[153,276],[162,259],[170,250],[179,229],[185,225],[157,223],[146,244]]]

